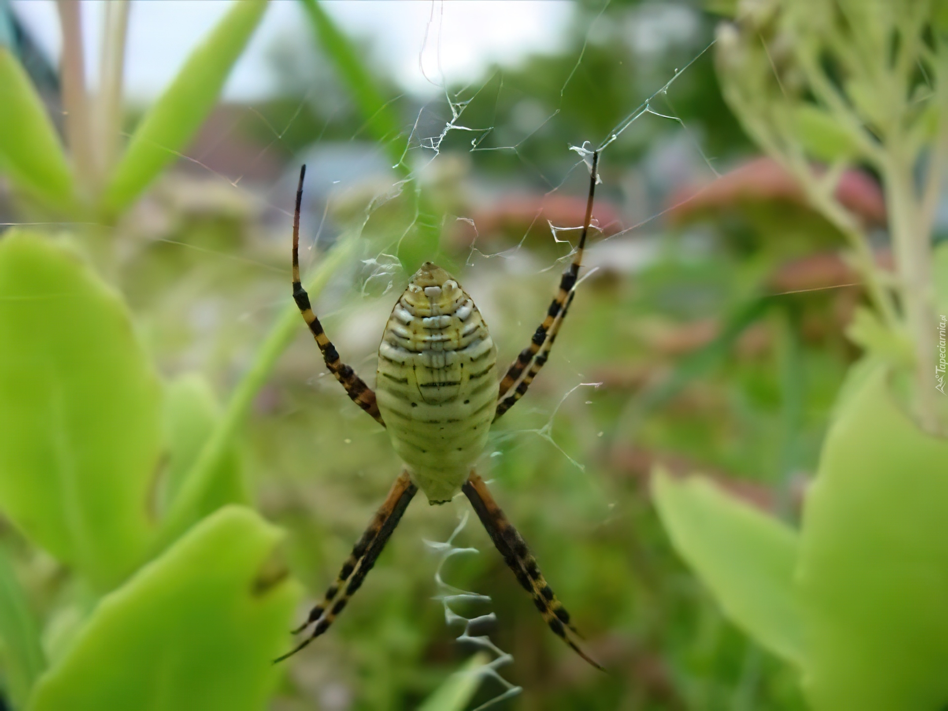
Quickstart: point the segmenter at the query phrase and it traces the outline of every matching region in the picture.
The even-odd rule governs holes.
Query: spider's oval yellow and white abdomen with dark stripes
[[[487,444],[497,348],[474,301],[427,262],[392,309],[375,394],[392,447],[431,503],[449,501]]]

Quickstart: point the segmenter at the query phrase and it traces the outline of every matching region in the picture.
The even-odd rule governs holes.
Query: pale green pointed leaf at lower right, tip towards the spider
[[[793,530],[699,477],[680,481],[657,470],[652,494],[675,550],[728,618],[762,647],[802,667],[806,650],[793,593]]]

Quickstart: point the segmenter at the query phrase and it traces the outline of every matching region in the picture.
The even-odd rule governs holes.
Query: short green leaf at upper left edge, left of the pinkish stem
[[[27,72],[0,45],[0,173],[49,207],[73,206],[69,163]]]

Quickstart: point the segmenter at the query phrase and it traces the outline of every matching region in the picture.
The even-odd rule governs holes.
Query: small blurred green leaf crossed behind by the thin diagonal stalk
[[[201,447],[220,420],[220,407],[208,381],[198,374],[183,375],[165,388],[164,430],[168,466],[158,489],[158,510],[167,511],[182,483],[197,461]],[[219,470],[205,492],[204,501],[195,509],[196,518],[203,518],[225,503],[248,503],[235,447],[221,457]]]

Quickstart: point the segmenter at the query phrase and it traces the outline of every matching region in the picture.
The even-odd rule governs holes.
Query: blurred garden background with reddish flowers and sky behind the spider
[[[92,88],[104,5],[81,3]],[[544,314],[582,222],[589,173],[574,149],[604,146],[588,278],[544,371],[492,430],[480,470],[610,673],[546,629],[476,520],[453,543],[480,553],[452,556],[442,575],[490,602],[453,610],[496,615],[471,633],[512,655],[499,672],[522,690],[499,709],[803,708],[793,670],[724,619],[649,501],[650,474],[664,465],[710,474],[794,521],[857,356],[843,327],[864,295],[837,256],[843,238],[757,155],[722,100],[716,8],[320,7],[356,47],[395,133],[366,115],[303,4],[271,2],[197,136],[106,228],[116,247],[102,275],[128,301],[160,374],[203,374],[223,401],[246,372],[289,299],[303,162],[303,268],[357,234],[357,258],[332,275],[317,311],[370,385],[410,276],[403,247],[421,243],[425,220],[440,234],[430,258],[477,302],[499,363],[509,362]],[[129,4],[123,136],[228,8]],[[0,14],[62,127],[55,4],[10,0]],[[848,173],[837,195],[867,225],[884,225],[871,174]],[[0,224],[83,229],[37,214],[0,177]],[[241,448],[252,501],[289,532],[284,554],[308,605],[399,463],[301,322],[253,402]],[[464,626],[446,625],[433,599],[444,591],[426,540],[447,540],[466,510],[464,500],[410,507],[334,628],[287,663],[274,711],[417,708],[464,663],[475,647],[456,642]],[[37,591],[55,586],[43,554],[21,550],[20,561]],[[31,599],[48,614],[52,598]],[[487,678],[467,707],[505,688]]]

